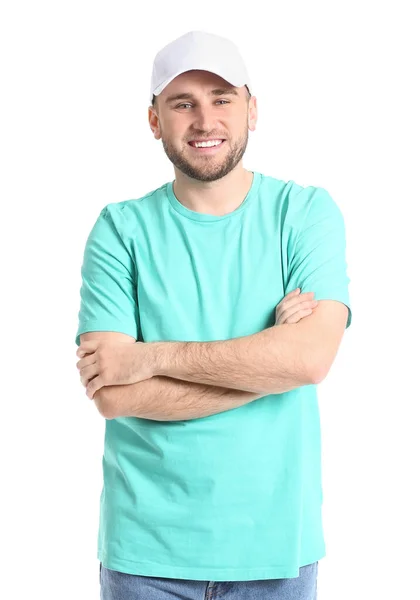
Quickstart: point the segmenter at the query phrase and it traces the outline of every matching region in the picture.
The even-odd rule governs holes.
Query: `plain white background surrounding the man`
[[[248,65],[259,118],[244,166],[326,188],[345,217],[353,323],[319,386],[318,600],[418,597],[414,5],[3,4],[2,597],[99,598],[105,420],[75,367],[80,266],[107,203],[173,179],[148,125],[150,75],[191,29],[230,37]]]

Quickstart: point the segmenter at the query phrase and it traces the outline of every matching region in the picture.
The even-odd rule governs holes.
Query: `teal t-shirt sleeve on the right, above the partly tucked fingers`
[[[291,202],[289,269],[286,294],[300,288],[316,300],[338,300],[352,321],[346,261],[346,231],[342,212],[330,194],[308,186]]]

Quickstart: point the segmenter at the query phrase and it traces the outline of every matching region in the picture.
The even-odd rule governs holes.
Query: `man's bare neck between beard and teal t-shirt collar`
[[[191,179],[175,167],[173,185],[177,200],[199,213],[223,216],[242,204],[253,181],[253,173],[238,165],[217,181]]]

